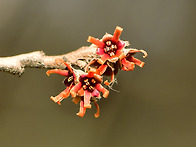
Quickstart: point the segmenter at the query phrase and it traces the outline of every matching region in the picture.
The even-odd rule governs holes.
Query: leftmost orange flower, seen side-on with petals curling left
[[[48,70],[46,72],[46,74],[48,76],[51,73],[57,73],[57,74],[60,74],[60,75],[66,77],[64,79],[64,84],[65,84],[65,86],[67,86],[67,88],[64,91],[62,91],[59,95],[57,95],[55,97],[53,97],[53,96],[50,97],[50,99],[52,99],[54,102],[61,105],[61,101],[70,95],[70,90],[75,85],[76,75],[75,75],[73,69],[71,68],[71,66],[68,63],[66,63],[64,60],[59,58],[59,59],[56,59],[55,61],[56,61],[56,63],[59,63],[59,62],[64,63],[68,69],[68,70],[52,69],[52,70]]]

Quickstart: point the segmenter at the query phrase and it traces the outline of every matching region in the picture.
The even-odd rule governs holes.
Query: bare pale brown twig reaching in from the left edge
[[[64,68],[59,67],[55,63],[56,58],[61,58],[64,61],[84,68],[89,60],[96,58],[96,48],[94,45],[89,47],[81,47],[76,51],[57,55],[57,56],[46,56],[43,51],[35,51],[31,53],[16,55],[12,57],[1,57],[0,58],[0,71],[6,71],[11,74],[17,74],[21,76],[24,73],[25,67],[30,68]]]

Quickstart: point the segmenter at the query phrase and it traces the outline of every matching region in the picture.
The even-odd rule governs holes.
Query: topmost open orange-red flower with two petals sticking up
[[[122,31],[123,29],[117,26],[113,36],[106,34],[103,36],[102,40],[96,39],[91,36],[88,37],[88,42],[91,42],[98,46],[97,54],[101,55],[101,60],[103,63],[106,60],[117,61],[118,57],[122,54],[122,49],[125,46],[125,42],[119,40]]]

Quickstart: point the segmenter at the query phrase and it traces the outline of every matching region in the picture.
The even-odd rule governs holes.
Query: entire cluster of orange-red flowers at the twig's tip
[[[122,31],[123,29],[117,26],[113,35],[106,33],[101,40],[88,37],[87,41],[95,45],[95,54],[99,55],[100,58],[90,61],[82,72],[77,72],[64,60],[56,59],[56,63],[63,63],[67,69],[52,69],[48,70],[46,74],[57,73],[65,76],[66,89],[59,95],[52,96],[51,99],[60,105],[64,98],[71,95],[74,103],[80,102],[80,109],[77,113],[80,117],[84,116],[87,108],[91,108],[91,102],[93,102],[97,108],[95,117],[98,117],[100,110],[97,99],[101,98],[100,92],[104,98],[108,97],[109,91],[105,87],[114,82],[115,75],[119,70],[131,71],[135,65],[144,66],[144,62],[133,57],[134,54],[141,52],[144,54],[144,58],[147,56],[144,50],[125,49],[129,43],[120,40]],[[105,86],[102,84],[104,76],[111,77],[110,82],[104,81]]]

